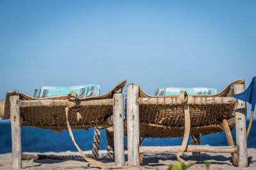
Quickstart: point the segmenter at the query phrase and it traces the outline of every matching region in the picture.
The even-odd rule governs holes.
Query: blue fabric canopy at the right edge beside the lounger
[[[252,104],[252,111],[254,111],[256,103],[256,76],[252,78],[252,82],[247,87],[247,89],[244,90],[244,92],[241,92],[240,94],[234,94],[232,97]]]

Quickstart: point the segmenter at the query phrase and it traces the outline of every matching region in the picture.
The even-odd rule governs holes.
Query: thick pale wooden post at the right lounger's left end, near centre
[[[136,99],[139,96],[139,86],[130,84],[127,86],[127,146],[128,164],[140,165],[140,125],[139,106]]]

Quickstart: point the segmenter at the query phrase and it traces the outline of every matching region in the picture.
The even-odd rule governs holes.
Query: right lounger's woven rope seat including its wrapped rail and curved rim
[[[190,112],[189,135],[211,134],[224,131],[222,120],[234,117],[236,99],[230,97],[232,85],[244,84],[244,80],[230,83],[214,95],[188,96]],[[171,138],[184,136],[184,104],[179,95],[150,96],[141,87],[136,103],[139,106],[140,137]],[[126,110],[126,109],[125,109]],[[125,129],[127,134],[127,129]]]

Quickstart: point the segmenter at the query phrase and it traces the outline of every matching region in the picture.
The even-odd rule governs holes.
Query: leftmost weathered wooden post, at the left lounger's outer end
[[[10,96],[10,121],[12,129],[12,168],[21,168],[20,96]]]

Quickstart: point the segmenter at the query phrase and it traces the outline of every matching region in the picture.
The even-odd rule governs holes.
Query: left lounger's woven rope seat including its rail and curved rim
[[[72,129],[88,129],[91,127],[107,128],[112,124],[106,118],[113,115],[115,100],[113,94],[124,87],[126,80],[118,83],[108,93],[100,96],[68,99],[67,96],[35,98],[19,92],[20,117],[22,126],[40,127],[63,131],[67,128],[65,108],[68,106],[68,120]],[[10,118],[10,96],[6,92],[3,119]]]

